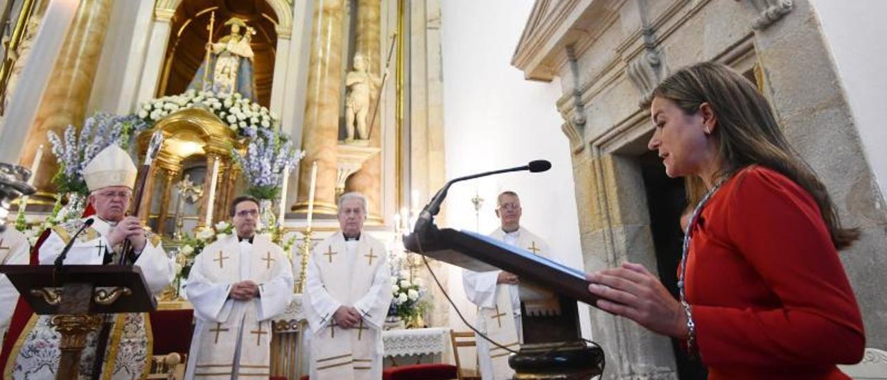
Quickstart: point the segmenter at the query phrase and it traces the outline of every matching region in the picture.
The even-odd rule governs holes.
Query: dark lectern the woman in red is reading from
[[[406,235],[404,246],[475,272],[502,269],[521,278],[523,343],[508,358],[515,379],[589,379],[603,371],[603,351],[586,344],[579,331],[576,301],[594,305],[596,300],[582,271],[489,236],[449,228]]]

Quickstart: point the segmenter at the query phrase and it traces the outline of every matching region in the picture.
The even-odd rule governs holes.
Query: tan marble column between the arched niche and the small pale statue
[[[339,106],[341,104],[341,43],[344,0],[319,0],[315,5],[311,28],[311,55],[308,95],[305,100],[305,122],[302,149],[305,158],[299,165],[298,211],[308,210],[311,183],[311,162],[318,162],[317,190],[314,211],[334,214],[336,180],[336,145],[339,137]]]

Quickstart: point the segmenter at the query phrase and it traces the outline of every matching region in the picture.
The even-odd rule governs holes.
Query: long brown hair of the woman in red
[[[718,157],[723,164],[716,178],[729,178],[752,164],[776,170],[810,193],[836,249],[846,249],[859,239],[858,228],[841,226],[826,186],[789,145],[770,104],[754,83],[729,67],[703,62],[669,75],[656,86],[653,95],[675,102],[687,115],[694,115],[703,103],[710,105],[718,121],[712,137],[718,141]],[[687,202],[692,207],[703,197],[706,187],[696,176],[687,176],[686,182]]]

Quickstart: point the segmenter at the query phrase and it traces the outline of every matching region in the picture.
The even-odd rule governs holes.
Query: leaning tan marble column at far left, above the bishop
[[[21,155],[23,166],[31,166],[37,146],[51,146],[46,132],[56,131],[61,135],[68,124],[80,126],[83,123],[112,4],[111,0],[80,2],[65,44],[59,51],[59,59],[52,69],[51,81],[43,92],[35,123],[28,132]],[[42,172],[54,173],[58,167],[52,154],[43,154],[42,161]],[[38,192],[49,189],[51,177],[36,178],[34,185]]]

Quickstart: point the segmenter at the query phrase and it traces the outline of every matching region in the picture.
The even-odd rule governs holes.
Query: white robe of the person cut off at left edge
[[[25,265],[30,251],[31,244],[27,242],[25,234],[12,226],[0,233],[0,265]],[[15,289],[5,274],[0,273],[0,338],[6,334],[9,320],[12,319],[12,309],[18,299],[19,290]]]

